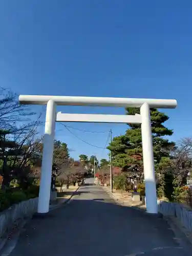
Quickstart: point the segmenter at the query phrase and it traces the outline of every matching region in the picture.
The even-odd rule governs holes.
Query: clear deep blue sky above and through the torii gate
[[[0,3],[0,85],[18,94],[175,98],[165,110],[170,138],[192,136],[191,0],[6,0]],[[40,111],[42,106],[32,106]],[[123,109],[60,107],[68,113]],[[123,134],[126,125],[71,123]],[[71,130],[103,147],[108,133]],[[60,124],[56,138],[72,157],[106,157]]]

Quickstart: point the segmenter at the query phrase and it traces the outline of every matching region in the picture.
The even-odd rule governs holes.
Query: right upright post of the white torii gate
[[[153,156],[153,142],[150,106],[148,103],[143,103],[140,109],[141,113],[141,133],[142,133],[142,148],[143,148],[143,165],[144,165],[144,180],[145,180],[145,196],[146,196],[146,211],[150,214],[157,214],[157,194],[156,180]]]

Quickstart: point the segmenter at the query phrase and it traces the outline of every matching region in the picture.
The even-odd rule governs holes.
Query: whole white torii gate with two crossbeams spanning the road
[[[150,108],[174,109],[175,99],[137,99],[137,98],[102,98],[74,96],[20,95],[20,104],[47,104],[44,148],[42,154],[41,179],[38,199],[38,213],[49,212],[51,175],[53,161],[53,142],[55,121],[59,122],[102,122],[102,123],[141,123],[146,211],[157,214],[157,195],[154,169]],[[97,115],[97,114],[56,114],[56,105],[118,106],[140,108],[140,114]]]

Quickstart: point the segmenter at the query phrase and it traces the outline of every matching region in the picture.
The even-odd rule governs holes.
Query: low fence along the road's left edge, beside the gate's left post
[[[30,217],[37,211],[38,198],[12,205],[9,209],[0,214],[0,237],[17,225],[18,222],[26,217]]]

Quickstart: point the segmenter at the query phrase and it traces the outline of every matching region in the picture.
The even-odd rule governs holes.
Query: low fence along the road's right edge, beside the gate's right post
[[[158,201],[158,211],[164,216],[177,217],[183,226],[192,232],[192,211],[184,208],[181,204]]]

